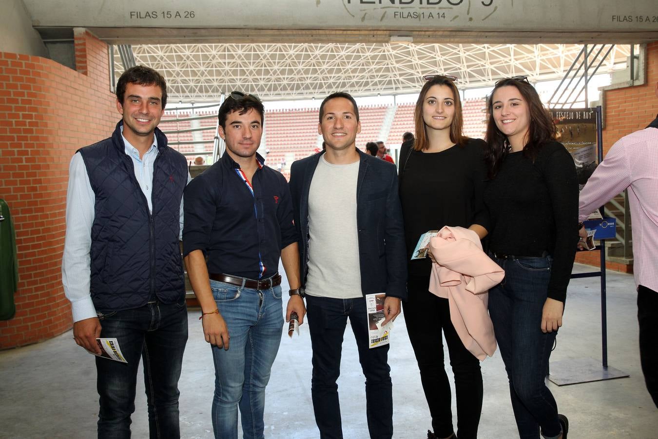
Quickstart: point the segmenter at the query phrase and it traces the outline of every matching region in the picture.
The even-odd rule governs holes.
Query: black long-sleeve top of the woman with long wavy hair
[[[578,178],[564,145],[546,143],[534,163],[509,153],[485,193],[490,249],[496,253],[553,256],[548,297],[565,301],[578,242]]]

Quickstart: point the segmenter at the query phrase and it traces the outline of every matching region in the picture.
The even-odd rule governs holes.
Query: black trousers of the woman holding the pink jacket
[[[443,337],[450,354],[457,394],[457,436],[477,438],[482,412],[480,361],[465,348],[450,321],[448,299],[434,296],[428,276],[409,276],[409,299],[403,304],[409,340],[416,354],[420,381],[432,415],[434,434],[453,434],[450,383],[443,365]],[[443,337],[442,337],[443,333]]]

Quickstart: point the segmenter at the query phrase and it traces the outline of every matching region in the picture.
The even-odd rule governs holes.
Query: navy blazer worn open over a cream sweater
[[[290,168],[295,227],[299,233],[299,264],[306,283],[309,257],[309,189],[324,151],[297,160]],[[395,165],[359,151],[357,228],[361,291],[407,299],[407,250]],[[327,190],[330,190],[328,188]]]

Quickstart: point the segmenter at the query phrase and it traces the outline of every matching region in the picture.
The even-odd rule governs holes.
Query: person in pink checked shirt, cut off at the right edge
[[[658,116],[644,130],[622,137],[611,147],[580,192],[578,220],[586,220],[626,188],[633,219],[640,360],[647,389],[658,407]],[[583,233],[581,228],[581,237]]]

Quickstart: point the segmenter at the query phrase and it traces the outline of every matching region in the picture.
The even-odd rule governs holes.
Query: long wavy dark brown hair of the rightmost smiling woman
[[[544,107],[537,90],[525,80],[506,78],[496,82],[492,93],[487,98],[487,132],[485,140],[488,147],[484,152],[484,160],[489,169],[489,177],[498,173],[503,159],[509,152],[507,136],[498,129],[493,119],[493,93],[501,87],[513,86],[519,90],[520,95],[530,109],[530,124],[528,126],[528,142],[523,146],[524,157],[534,161],[545,143],[555,140],[555,124],[550,113]]]

